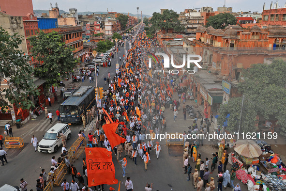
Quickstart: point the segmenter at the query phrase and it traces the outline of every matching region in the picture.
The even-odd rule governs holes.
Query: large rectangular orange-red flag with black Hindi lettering
[[[89,186],[118,184],[112,162],[112,152],[106,148],[85,148]]]

